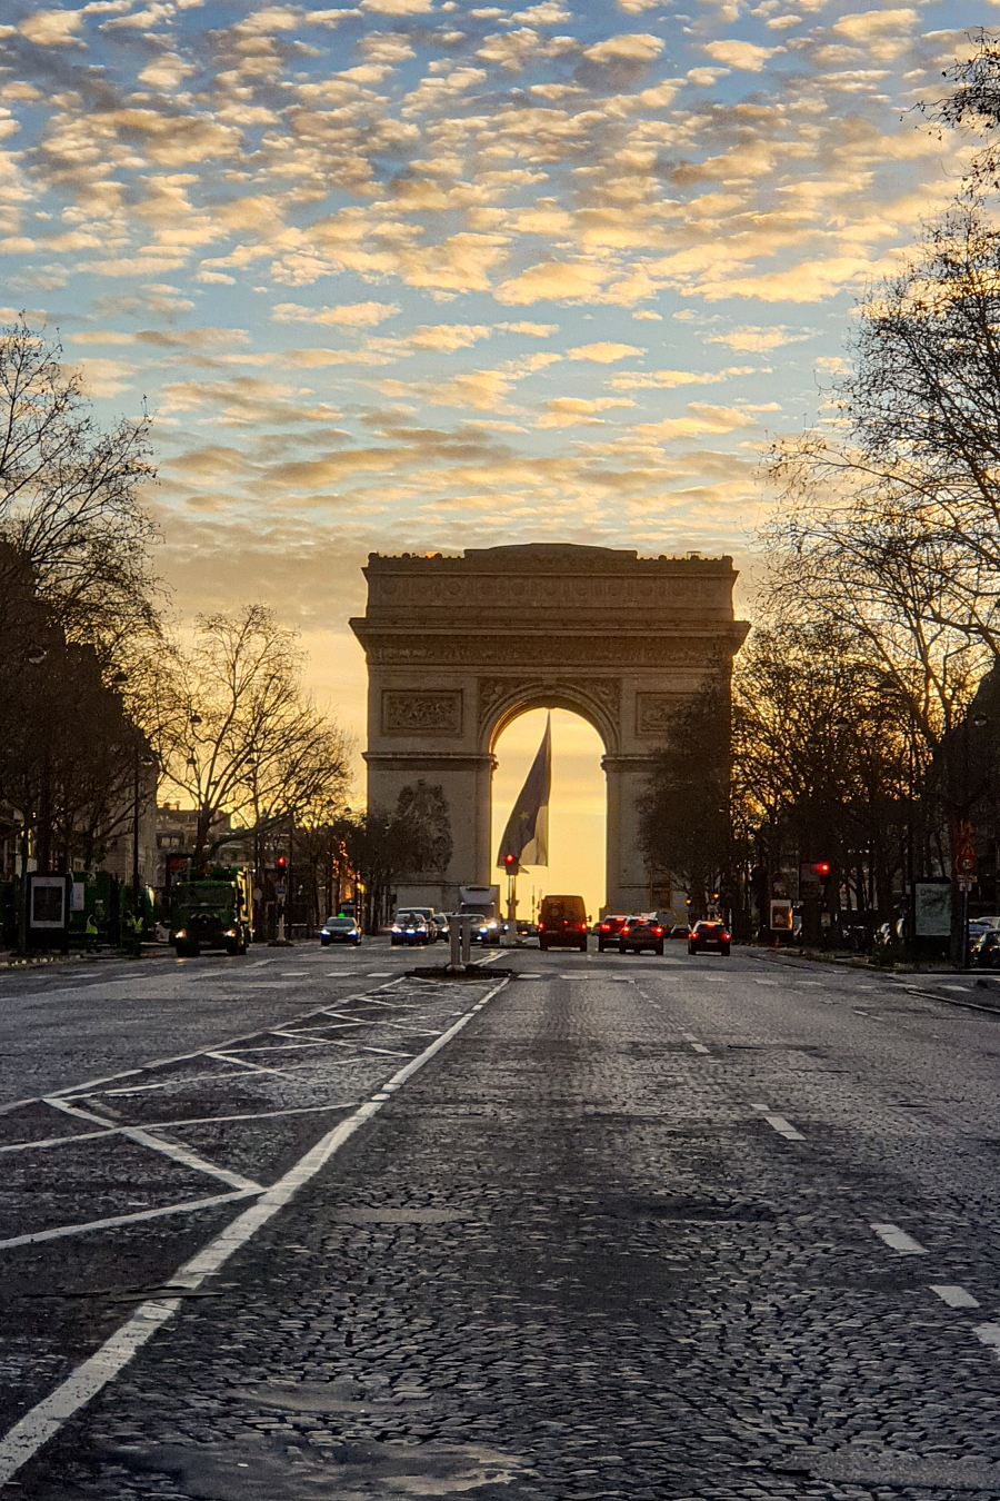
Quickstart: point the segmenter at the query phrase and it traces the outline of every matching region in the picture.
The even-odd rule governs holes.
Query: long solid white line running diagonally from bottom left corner
[[[423,1069],[435,1054],[441,1052],[442,1048],[456,1037],[463,1027],[466,1027],[472,1018],[483,1010],[483,1007],[492,1001],[492,998],[504,988],[507,982],[501,980],[495,985],[492,991],[477,1001],[471,1010],[465,1012],[457,1022],[448,1027],[447,1031],[441,1033],[439,1037],[424,1048],[421,1054],[402,1067],[382,1090],[394,1091],[408,1079]],[[261,1225],[265,1225],[268,1219],[277,1214],[288,1201],[298,1192],[298,1189],[307,1183],[310,1178],[319,1172],[322,1166],[343,1147],[346,1141],[355,1133],[355,1130],[369,1121],[378,1111],[382,1109],[384,1100],[366,1100],[352,1115],[348,1115],[345,1121],[340,1121],[333,1130],[327,1132],[315,1147],[312,1147],[304,1157],[300,1157],[294,1168],[271,1184],[256,1204],[244,1210],[232,1223],[222,1231],[204,1250],[192,1256],[186,1265],[180,1268],[177,1276],[171,1277],[174,1285],[183,1286],[186,1291],[192,1291],[204,1282],[207,1276],[216,1273],[229,1256],[237,1252],[241,1246],[256,1234]],[[235,1196],[235,1195],[234,1195]],[[150,1298],[142,1303],[129,1319],[118,1328],[103,1345],[94,1351],[94,1354],[84,1360],[76,1370],[43,1397],[30,1412],[25,1412],[18,1423],[13,1424],[10,1432],[0,1439],[0,1484],[4,1484],[16,1471],[31,1459],[33,1454],[39,1451],[42,1444],[48,1442],[54,1433],[63,1426],[63,1423],[78,1412],[81,1406],[85,1406],[109,1381],[112,1381],[120,1370],[127,1366],[138,1349],[145,1345],[148,1339],[160,1328],[168,1318],[171,1318],[180,1307],[180,1298]]]

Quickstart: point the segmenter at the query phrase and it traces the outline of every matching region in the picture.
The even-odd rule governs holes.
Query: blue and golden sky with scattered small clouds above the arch
[[[369,551],[745,561],[762,452],[957,191],[970,143],[915,105],[991,24],[4,0],[1,315],[58,330],[102,419],[145,402],[177,618],[274,605],[361,735]]]

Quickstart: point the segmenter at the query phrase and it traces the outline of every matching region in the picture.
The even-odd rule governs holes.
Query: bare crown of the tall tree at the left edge
[[[102,429],[79,375],[24,320],[0,330],[0,539],[30,564],[70,641],[102,660],[157,629],[139,489],[154,477],[148,419]]]

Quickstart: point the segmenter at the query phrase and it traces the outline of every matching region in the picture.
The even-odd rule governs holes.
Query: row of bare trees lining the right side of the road
[[[996,875],[1000,42],[979,35],[951,81],[933,123],[982,149],[865,296],[831,419],[774,449],[780,503],[732,699],[709,674],[657,766],[646,853],[696,905],[724,886],[730,907],[756,889],[763,908],[822,859],[834,917],[889,920],[970,836]],[[693,800],[703,838],[684,827]]]

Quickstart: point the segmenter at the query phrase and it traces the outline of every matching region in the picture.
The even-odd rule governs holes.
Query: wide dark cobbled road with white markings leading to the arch
[[[411,964],[0,985],[4,1496],[1000,1495],[1000,1016]]]

